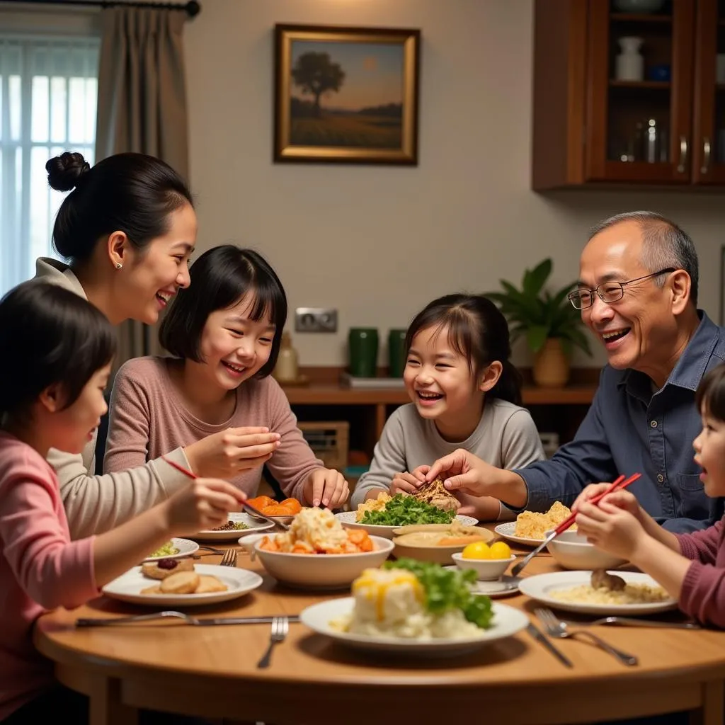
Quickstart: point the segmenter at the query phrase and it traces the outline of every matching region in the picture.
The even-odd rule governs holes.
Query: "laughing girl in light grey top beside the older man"
[[[542,460],[541,439],[521,407],[521,376],[510,362],[508,325],[487,297],[434,299],[410,323],[403,380],[410,402],[388,419],[370,471],[352,504],[415,493],[431,463],[457,448],[500,468]],[[456,494],[458,513],[481,520],[513,518],[497,499]]]

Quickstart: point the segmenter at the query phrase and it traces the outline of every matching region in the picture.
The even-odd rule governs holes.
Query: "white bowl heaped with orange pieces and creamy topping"
[[[364,569],[380,566],[393,550],[389,539],[343,529],[330,511],[319,508],[299,513],[289,531],[244,537],[240,543],[275,579],[309,589],[349,587]]]

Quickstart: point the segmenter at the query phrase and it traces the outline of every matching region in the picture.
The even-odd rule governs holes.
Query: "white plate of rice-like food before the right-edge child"
[[[610,572],[624,580],[618,591],[592,587],[591,571],[557,571],[527,576],[518,589],[531,599],[555,609],[597,616],[654,614],[677,606],[649,575],[639,571]]]

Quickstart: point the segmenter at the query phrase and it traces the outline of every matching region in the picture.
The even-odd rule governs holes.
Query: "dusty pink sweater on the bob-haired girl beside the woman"
[[[238,426],[268,426],[281,435],[281,446],[267,465],[285,494],[302,500],[307,477],[315,468],[323,468],[323,463],[302,437],[277,381],[244,381],[236,389],[236,408],[231,418],[212,425],[188,410],[169,377],[164,357],[136,357],[118,371],[111,395],[104,470],[109,473],[135,468],[175,448]],[[260,466],[230,480],[253,496],[261,479]]]

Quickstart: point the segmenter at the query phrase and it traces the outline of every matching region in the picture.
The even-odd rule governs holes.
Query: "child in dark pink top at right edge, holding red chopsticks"
[[[693,442],[700,480],[710,497],[725,496],[725,365],[697,387],[703,430]],[[574,503],[581,534],[653,576],[703,624],[725,628],[725,519],[694,534],[671,534],[628,491],[609,494],[598,506],[587,500],[608,484],[587,486]]]

